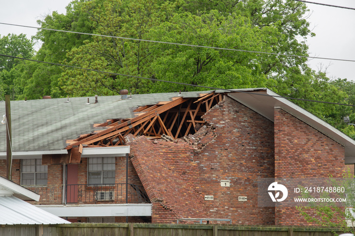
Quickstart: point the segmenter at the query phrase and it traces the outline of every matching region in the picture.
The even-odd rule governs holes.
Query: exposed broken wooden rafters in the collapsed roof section
[[[108,120],[97,124],[95,127],[107,129],[72,140],[66,149],[125,145],[124,137],[128,134],[145,135],[152,139],[160,138],[163,134],[175,139],[194,134],[194,128],[204,125],[201,116],[222,98],[222,94],[212,92],[197,98],[174,97],[172,101],[140,106],[134,110],[135,117],[132,119]]]

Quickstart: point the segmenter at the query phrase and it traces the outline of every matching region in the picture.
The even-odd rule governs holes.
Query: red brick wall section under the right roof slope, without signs
[[[282,109],[274,110],[275,178],[341,178],[344,147]],[[275,210],[276,225],[309,225],[295,207]]]

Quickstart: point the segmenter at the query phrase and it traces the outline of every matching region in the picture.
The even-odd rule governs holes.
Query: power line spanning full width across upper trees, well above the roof
[[[0,22],[0,24],[11,25],[11,26],[19,26],[19,27],[26,27],[26,28],[34,28],[34,29],[51,30],[51,31],[65,32],[65,33],[78,33],[78,34],[85,34],[85,35],[91,35],[91,36],[111,37],[111,38],[118,38],[120,40],[133,40],[133,41],[141,41],[141,42],[149,42],[149,43],[159,43],[159,44],[169,44],[169,45],[177,45],[177,46],[189,46],[189,47],[197,47],[197,48],[228,50],[228,51],[235,51],[235,52],[259,53],[259,54],[268,54],[268,55],[286,56],[286,57],[298,57],[298,58],[308,58],[308,59],[323,59],[323,60],[355,62],[355,60],[349,60],[349,59],[338,59],[338,58],[329,58],[329,57],[312,57],[312,56],[283,54],[283,53],[259,52],[259,51],[242,50],[242,49],[209,47],[209,46],[200,46],[200,45],[192,45],[192,44],[179,44],[179,43],[170,43],[170,42],[163,42],[163,41],[143,40],[143,39],[140,39],[140,38],[119,37],[119,36],[110,36],[110,35],[95,34],[95,33],[83,33],[83,32],[67,31],[67,30],[60,30],[60,29],[49,29],[49,28],[34,27],[34,26],[27,26],[27,25],[18,25],[18,24],[10,24],[10,23],[3,23],[3,22]]]

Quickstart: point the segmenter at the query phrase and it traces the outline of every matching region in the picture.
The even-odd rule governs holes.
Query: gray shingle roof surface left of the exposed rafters
[[[198,97],[203,92],[183,92],[183,97]],[[121,100],[121,96],[11,101],[12,150],[42,151],[65,148],[65,140],[75,139],[81,134],[94,131],[93,124],[108,119],[132,118],[138,106],[170,101],[179,93],[132,95],[132,99]],[[129,96],[129,95],[128,95]],[[5,114],[5,102],[0,102],[0,116]],[[6,125],[0,124],[0,152],[6,151]]]

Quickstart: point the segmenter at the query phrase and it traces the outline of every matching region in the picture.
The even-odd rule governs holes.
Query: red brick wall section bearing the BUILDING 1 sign
[[[214,195],[213,201],[205,201],[209,218],[274,224],[274,208],[257,206],[258,177],[274,177],[273,123],[229,97],[204,120],[217,134],[194,158],[202,195]],[[230,187],[221,187],[221,180],[230,180]],[[247,196],[247,201],[238,201],[238,196]]]

